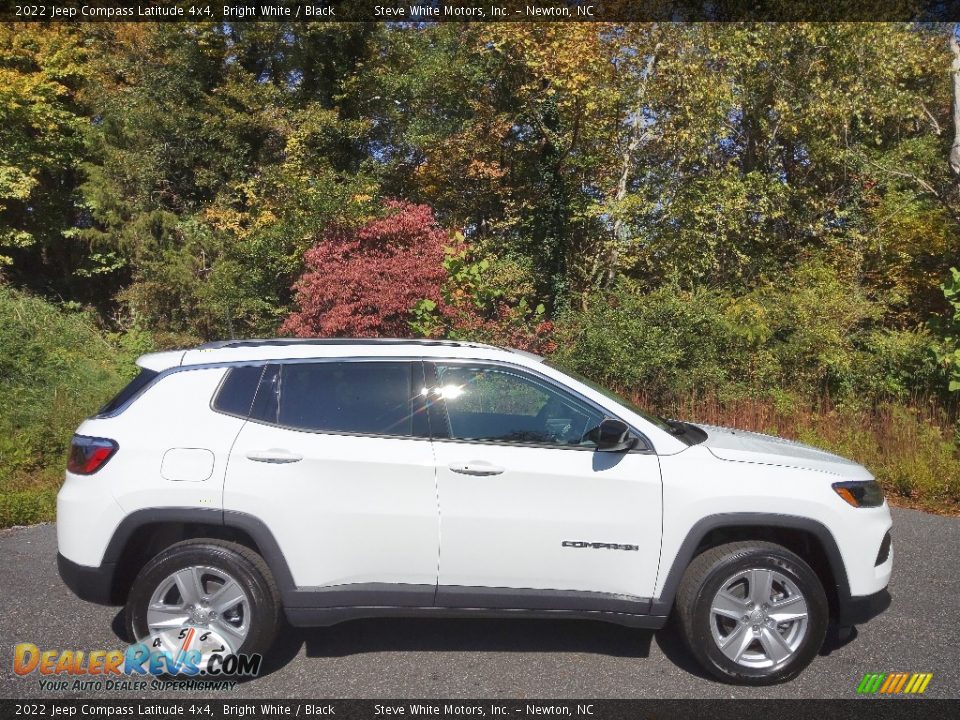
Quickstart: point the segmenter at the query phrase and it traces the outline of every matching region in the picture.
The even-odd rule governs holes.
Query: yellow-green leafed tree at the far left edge
[[[0,271],[68,295],[87,122],[81,40],[66,26],[0,25]]]

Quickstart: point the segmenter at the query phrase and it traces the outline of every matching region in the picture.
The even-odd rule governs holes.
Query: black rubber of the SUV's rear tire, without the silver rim
[[[191,566],[208,566],[233,576],[250,601],[250,631],[235,653],[263,653],[273,640],[277,625],[277,600],[259,569],[240,553],[217,544],[202,542],[174,545],[153,558],[137,575],[127,600],[127,630],[131,637],[149,635],[147,605],[161,582]]]

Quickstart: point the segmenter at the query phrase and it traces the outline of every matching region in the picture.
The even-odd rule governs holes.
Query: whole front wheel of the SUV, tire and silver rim
[[[680,582],[676,609],[700,665],[738,685],[795,678],[820,651],[830,616],[810,566],[762,541],[728,543],[694,558]]]

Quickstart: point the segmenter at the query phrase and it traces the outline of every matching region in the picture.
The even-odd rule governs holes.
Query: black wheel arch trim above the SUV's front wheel
[[[650,612],[668,614],[690,562],[712,547],[735,540],[767,540],[798,554],[823,583],[831,615],[835,616],[849,600],[850,586],[843,556],[833,534],[823,523],[778,513],[721,513],[701,518],[687,532]]]

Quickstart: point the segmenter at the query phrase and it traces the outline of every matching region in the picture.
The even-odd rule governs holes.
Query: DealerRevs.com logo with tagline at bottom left
[[[44,691],[142,691],[228,689],[234,678],[260,673],[259,654],[204,652],[191,648],[187,628],[176,651],[158,649],[156,642],[137,642],[126,650],[41,650],[33,643],[20,643],[13,652],[13,671],[21,677],[38,676]]]

